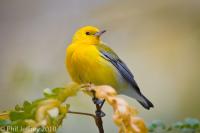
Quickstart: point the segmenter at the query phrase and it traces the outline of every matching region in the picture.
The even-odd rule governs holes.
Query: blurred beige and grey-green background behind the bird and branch
[[[70,82],[65,49],[85,25],[126,62],[155,108],[145,121],[200,118],[200,1],[198,0],[0,0],[0,110]],[[127,99],[127,98],[126,98]],[[72,110],[94,112],[91,98],[69,99]],[[104,106],[106,132],[116,132]],[[97,132],[93,119],[69,115],[59,132]]]

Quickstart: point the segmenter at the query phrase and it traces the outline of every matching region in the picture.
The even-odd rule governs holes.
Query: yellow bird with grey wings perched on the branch
[[[67,48],[66,66],[72,80],[79,84],[110,85],[118,93],[135,98],[144,108],[153,104],[141,93],[133,74],[117,54],[101,40],[93,26],[80,28]]]

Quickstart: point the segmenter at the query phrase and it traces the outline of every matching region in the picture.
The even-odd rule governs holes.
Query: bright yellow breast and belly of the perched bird
[[[79,46],[69,60],[68,69],[76,82],[116,85],[116,70],[100,56],[95,46]]]

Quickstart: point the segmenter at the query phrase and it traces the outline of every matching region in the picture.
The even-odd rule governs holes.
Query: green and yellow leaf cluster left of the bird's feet
[[[0,114],[0,132],[54,133],[62,124],[69,104],[64,102],[76,95],[78,85],[45,89],[44,97],[32,102],[24,101],[14,109]]]

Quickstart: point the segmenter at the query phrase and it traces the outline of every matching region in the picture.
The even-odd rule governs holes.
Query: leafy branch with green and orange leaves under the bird
[[[76,96],[79,91],[94,93],[96,98],[95,114],[70,111],[69,104],[65,104],[69,97]],[[102,103],[98,99],[105,99],[113,108],[113,120],[119,128],[119,133],[147,133],[144,121],[136,115],[136,109],[122,98],[117,97],[116,91],[109,86],[82,86],[70,84],[65,88],[45,89],[44,97],[33,102],[25,101],[23,105],[16,105],[14,109],[0,114],[0,130],[2,132],[34,133],[38,130],[50,129],[48,133],[55,133],[62,125],[67,113],[90,116],[95,119],[99,133],[104,133],[102,117]],[[12,127],[13,128],[9,128]],[[11,130],[9,130],[11,129]],[[19,131],[12,131],[19,129]],[[0,131],[0,132],[1,132]]]

